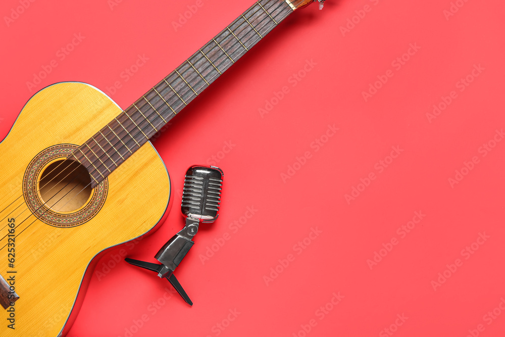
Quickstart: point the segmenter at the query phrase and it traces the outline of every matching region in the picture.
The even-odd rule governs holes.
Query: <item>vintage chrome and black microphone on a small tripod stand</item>
[[[175,277],[174,270],[193,246],[200,221],[214,222],[219,216],[223,176],[223,171],[215,166],[191,166],[186,171],[181,203],[186,225],[156,253],[155,258],[162,264],[125,258],[130,264],[156,271],[159,277],[168,279],[189,305],[193,302]]]

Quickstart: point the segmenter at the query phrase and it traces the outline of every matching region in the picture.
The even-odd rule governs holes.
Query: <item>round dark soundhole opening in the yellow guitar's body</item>
[[[39,193],[47,208],[56,212],[74,212],[91,196],[91,177],[79,162],[60,160],[44,168]]]

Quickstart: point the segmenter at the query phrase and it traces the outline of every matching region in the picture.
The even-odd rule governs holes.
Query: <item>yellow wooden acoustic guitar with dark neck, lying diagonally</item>
[[[1,336],[68,332],[99,257],[166,216],[170,178],[149,138],[311,2],[258,1],[124,111],[79,82],[26,103],[0,143]]]

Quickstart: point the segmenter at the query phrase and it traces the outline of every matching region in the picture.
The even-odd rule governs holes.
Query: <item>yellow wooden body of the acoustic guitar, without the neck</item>
[[[63,150],[58,155],[61,149],[82,145],[121,112],[88,84],[54,84],[30,99],[0,143],[0,274],[6,280],[14,275],[19,296],[13,306],[15,329],[3,320],[0,335],[56,337],[66,332],[104,250],[154,231],[166,215],[170,179],[150,142],[93,188],[75,210],[86,210],[79,216],[72,218],[76,212],[67,211],[42,220],[28,209],[26,200],[35,197],[27,184],[40,178],[46,165],[37,171],[37,163],[49,155],[61,163],[68,156]],[[12,222],[14,242],[8,237]],[[15,262],[9,266],[12,248]]]

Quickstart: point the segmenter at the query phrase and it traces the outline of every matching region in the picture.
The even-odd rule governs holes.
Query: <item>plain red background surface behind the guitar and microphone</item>
[[[0,135],[37,90],[54,82],[82,81],[109,92],[120,81],[111,98],[128,107],[251,2],[203,0],[175,29],[172,22],[194,4],[35,1],[9,25],[4,18]],[[17,6],[5,0],[0,14]],[[221,216],[200,231],[176,271],[193,307],[178,295],[163,300],[171,294],[168,282],[122,261],[104,277],[95,272],[69,336],[503,335],[505,313],[495,308],[505,297],[505,142],[493,137],[501,140],[496,130],[505,127],[505,10],[499,0],[453,6],[448,16],[449,0],[328,0],[321,12],[313,5],[292,14],[154,141],[171,174],[174,206],[158,232],[127,248],[133,258],[154,262],[182,228],[177,190],[188,166],[218,156],[225,172]],[[85,38],[60,60],[57,51],[74,33]],[[403,56],[409,60],[398,69],[392,62],[411,44],[419,50]],[[121,73],[138,55],[149,60],[124,81]],[[58,66],[30,92],[26,82],[52,60]],[[307,61],[314,68],[293,82]],[[474,65],[479,76],[461,86]],[[363,91],[386,73],[392,77],[365,100]],[[259,109],[284,86],[288,93],[262,116]],[[429,118],[451,91],[451,103]],[[328,125],[339,130],[327,139]],[[318,151],[311,147],[316,139],[327,140]],[[226,142],[234,146],[223,157]],[[392,147],[403,151],[391,162]],[[307,151],[310,158],[283,181],[281,174]],[[472,170],[457,176],[465,162]],[[463,179],[451,186],[449,178],[457,177]],[[346,201],[353,187],[361,192]],[[257,211],[233,230],[247,207]],[[402,234],[415,212],[425,216]],[[311,228],[319,236],[306,239],[305,249],[294,247]],[[201,262],[225,233],[229,240]],[[479,233],[489,237],[477,240]],[[385,255],[375,256],[376,265],[375,252]],[[282,267],[279,260],[289,254],[294,260]],[[457,259],[459,266],[451,266]],[[111,260],[104,257],[97,271],[107,271]],[[444,271],[448,277],[440,278]],[[264,276],[272,277],[268,285]],[[336,306],[328,304],[334,293],[343,296]],[[154,313],[157,301],[163,305]],[[318,309],[327,304],[323,315]],[[227,322],[235,309],[240,314]],[[488,314],[493,309],[496,316]],[[148,320],[140,324],[142,316]]]

